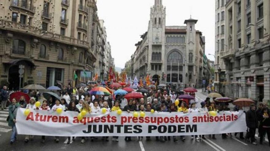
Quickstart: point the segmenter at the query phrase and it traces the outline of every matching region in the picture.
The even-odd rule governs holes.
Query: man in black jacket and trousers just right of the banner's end
[[[251,143],[253,145],[257,145],[255,142],[255,132],[258,125],[257,115],[256,115],[256,107],[254,104],[250,105],[250,110],[246,113],[246,124],[248,127],[248,132],[246,134],[246,140],[251,139]]]

